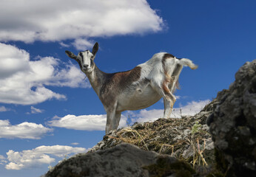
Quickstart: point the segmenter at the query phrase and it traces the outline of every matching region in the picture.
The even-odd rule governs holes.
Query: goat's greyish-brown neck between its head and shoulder
[[[94,89],[96,94],[99,95],[101,86],[104,84],[104,80],[106,80],[106,78],[107,78],[107,74],[105,72],[102,72],[95,65],[92,72],[87,73],[87,77],[90,80],[92,88]]]

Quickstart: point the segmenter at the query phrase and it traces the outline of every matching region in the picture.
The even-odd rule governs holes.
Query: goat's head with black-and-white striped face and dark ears
[[[92,52],[86,50],[84,52],[78,52],[76,56],[73,52],[65,51],[67,56],[76,60],[81,68],[82,72],[91,72],[94,68],[95,55],[98,52],[98,43],[96,42],[92,48]]]

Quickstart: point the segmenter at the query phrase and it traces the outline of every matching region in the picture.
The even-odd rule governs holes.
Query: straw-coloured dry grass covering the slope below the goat
[[[188,118],[183,119],[158,119],[155,122],[145,122],[132,127],[122,128],[110,139],[115,139],[116,144],[121,142],[137,145],[144,150],[153,150],[157,153],[169,154],[195,165],[207,166],[204,151],[206,150],[206,136],[208,132],[202,131],[202,125]],[[185,136],[184,131],[189,131]],[[177,137],[179,137],[177,139]],[[184,159],[183,150],[192,147],[192,159]]]

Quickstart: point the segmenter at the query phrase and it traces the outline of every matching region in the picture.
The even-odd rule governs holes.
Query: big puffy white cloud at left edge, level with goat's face
[[[65,100],[46,86],[90,87],[80,69],[52,57],[30,55],[16,46],[0,43],[0,103],[30,105],[50,99]]]

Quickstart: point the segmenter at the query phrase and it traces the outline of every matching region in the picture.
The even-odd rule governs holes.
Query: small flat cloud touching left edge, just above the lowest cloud
[[[11,125],[9,120],[0,119],[0,138],[18,138],[18,139],[41,139],[53,129],[46,128],[41,124],[32,122],[23,122],[18,125]]]

